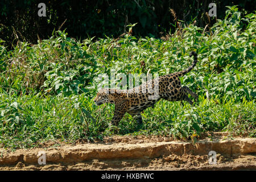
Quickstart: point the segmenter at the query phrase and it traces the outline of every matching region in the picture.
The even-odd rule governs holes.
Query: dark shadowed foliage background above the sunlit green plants
[[[216,22],[205,13],[209,11],[209,3],[205,1],[125,1],[125,0],[96,0],[96,1],[47,1],[46,17],[39,17],[38,4],[41,0],[0,2],[0,38],[12,48],[18,40],[37,43],[38,39],[48,39],[52,31],[67,28],[68,35],[73,38],[88,38],[105,35],[117,38],[129,23],[138,23],[133,29],[135,36],[156,36],[175,31],[174,16],[178,20],[191,22],[196,19],[196,25],[212,26]],[[225,16],[225,6],[238,5],[247,13],[253,13],[255,1],[214,1],[217,5],[217,18]],[[64,23],[65,22],[65,23]]]

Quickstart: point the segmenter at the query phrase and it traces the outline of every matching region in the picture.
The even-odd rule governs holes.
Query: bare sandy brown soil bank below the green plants
[[[256,170],[256,139],[212,133],[197,141],[168,137],[115,136],[102,142],[76,144],[52,141],[40,148],[0,148],[0,170]],[[209,164],[216,151],[216,164]],[[40,152],[46,164],[40,165]],[[43,160],[41,160],[43,161]]]

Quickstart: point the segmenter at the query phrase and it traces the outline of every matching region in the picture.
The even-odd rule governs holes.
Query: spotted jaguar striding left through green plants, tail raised
[[[126,112],[136,117],[138,123],[142,123],[141,112],[147,107],[154,107],[161,98],[168,101],[181,101],[181,103],[188,101],[192,105],[193,102],[188,98],[188,94],[195,97],[196,100],[197,94],[193,93],[187,86],[181,87],[179,79],[195,67],[197,54],[192,51],[189,56],[192,55],[194,56],[193,64],[183,71],[160,76],[129,90],[101,89],[94,102],[96,105],[107,102],[115,104],[114,117],[111,122],[111,125],[115,126],[118,125]],[[158,86],[158,94],[152,92],[156,86]],[[151,91],[148,88],[151,88]]]

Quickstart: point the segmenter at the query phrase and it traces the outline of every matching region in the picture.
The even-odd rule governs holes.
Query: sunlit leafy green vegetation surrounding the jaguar
[[[113,135],[108,124],[114,106],[96,106],[98,76],[117,73],[167,73],[199,62],[181,83],[199,94],[195,106],[159,101],[142,114],[137,126],[126,114],[117,134],[170,135],[195,140],[205,131],[229,131],[256,137],[256,15],[241,17],[228,7],[210,31],[193,24],[165,40],[126,34],[77,41],[64,31],[38,44],[19,42],[7,51],[0,44],[0,145],[31,147],[50,139],[75,142]]]

